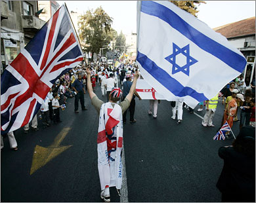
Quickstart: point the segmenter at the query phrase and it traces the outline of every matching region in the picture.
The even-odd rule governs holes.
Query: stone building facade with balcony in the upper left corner
[[[37,1],[1,2],[1,73],[41,29]]]

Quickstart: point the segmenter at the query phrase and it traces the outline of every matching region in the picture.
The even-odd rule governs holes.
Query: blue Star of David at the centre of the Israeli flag
[[[183,54],[184,56],[186,56],[186,64],[182,67],[179,66],[176,62],[176,56],[178,54]],[[179,71],[182,71],[188,76],[190,65],[196,64],[196,62],[198,62],[192,56],[190,56],[189,45],[186,45],[183,48],[179,48],[179,46],[175,45],[175,43],[173,43],[173,54],[167,56],[165,59],[173,64],[173,70],[171,74],[179,73]]]

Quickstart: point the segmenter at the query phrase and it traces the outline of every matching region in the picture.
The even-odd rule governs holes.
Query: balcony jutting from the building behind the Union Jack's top
[[[37,18],[36,16],[23,16],[22,15],[22,28],[24,31],[38,31],[43,27],[45,21]]]

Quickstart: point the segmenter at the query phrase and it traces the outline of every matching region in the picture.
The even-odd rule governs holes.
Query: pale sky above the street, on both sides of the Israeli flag
[[[137,1],[57,1],[60,6],[66,2],[68,10],[86,10],[102,6],[113,18],[112,28],[117,33],[136,33]],[[210,28],[217,28],[255,16],[255,1],[206,1],[198,7],[198,19]]]

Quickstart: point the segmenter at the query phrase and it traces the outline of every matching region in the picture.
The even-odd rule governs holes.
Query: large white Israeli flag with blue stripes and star
[[[169,1],[139,1],[137,63],[168,101],[196,107],[242,73],[246,60],[221,34]]]

